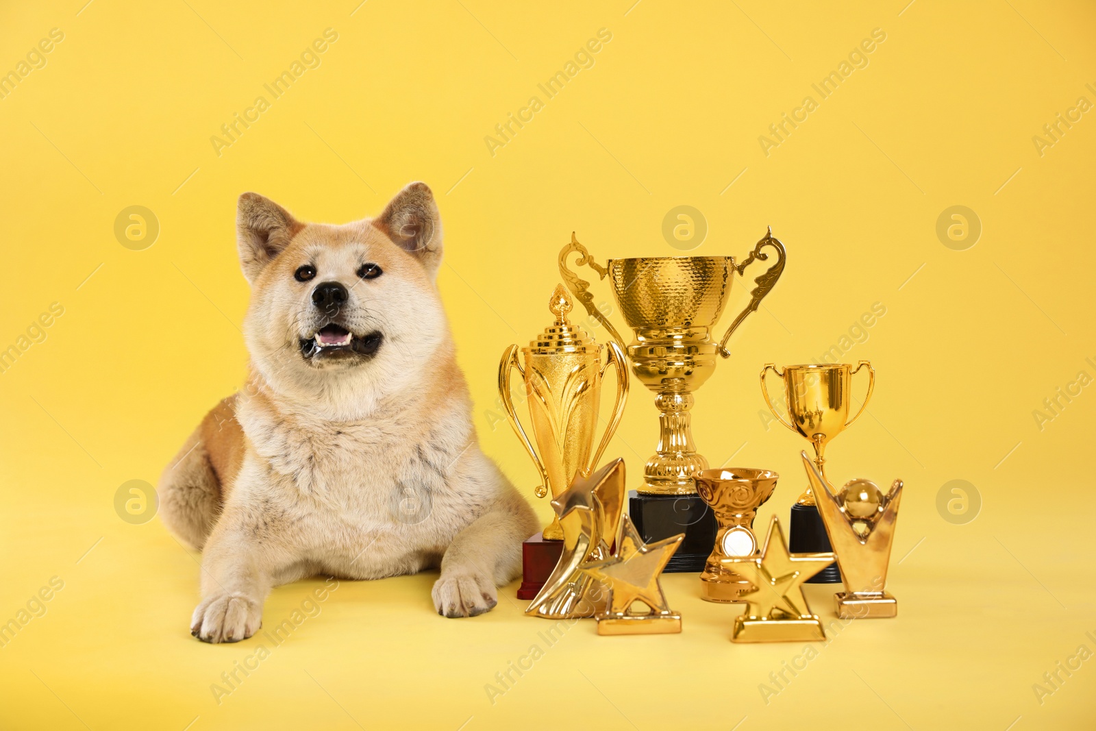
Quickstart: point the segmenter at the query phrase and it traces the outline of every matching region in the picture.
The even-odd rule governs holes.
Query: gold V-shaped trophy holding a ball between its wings
[[[807,453],[799,454],[814,494],[821,495],[819,513],[845,583],[846,591],[836,595],[837,616],[898,616],[898,601],[884,590],[902,480],[894,480],[886,495],[870,480],[852,480],[835,493]]]

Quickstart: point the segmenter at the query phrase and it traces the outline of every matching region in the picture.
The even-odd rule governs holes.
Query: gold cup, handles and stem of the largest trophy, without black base
[[[777,261],[754,279],[750,304],[731,322],[717,345],[711,330],[722,315],[734,274],[742,274],[754,260],[768,261],[765,247],[776,250]],[[600,278],[608,277],[617,306],[636,340],[624,339],[594,304],[590,283],[568,269],[567,260],[580,254],[575,263],[590,266]],[[695,494],[693,476],[708,468],[708,460],[693,443],[689,409],[693,392],[716,368],[716,355],[729,357],[726,345],[742,320],[757,310],[784,271],[784,244],[773,238],[772,229],[754,247],[742,264],[733,256],[641,256],[610,259],[597,264],[584,245],[571,235],[571,243],[559,253],[559,271],[567,286],[620,345],[627,347],[631,372],[655,393],[659,410],[659,443],[643,470],[640,492],[653,494]]]

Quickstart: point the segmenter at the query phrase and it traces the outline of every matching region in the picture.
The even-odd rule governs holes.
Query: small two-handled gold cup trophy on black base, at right
[[[765,374],[769,368],[784,379],[790,423],[780,413],[783,410],[778,410],[769,399],[765,384]],[[868,369],[868,392],[864,397],[860,410],[849,419],[853,376],[860,368]],[[814,464],[823,478],[826,444],[860,418],[868,408],[875,387],[876,372],[868,361],[860,361],[855,370],[847,363],[786,366],[784,373],[780,373],[776,365],[766,363],[761,369],[761,392],[765,397],[765,403],[781,424],[806,437],[814,446]],[[810,483],[791,506],[791,550],[804,552],[831,550]],[[820,572],[810,583],[835,584],[840,581],[841,573],[837,566],[833,564]]]

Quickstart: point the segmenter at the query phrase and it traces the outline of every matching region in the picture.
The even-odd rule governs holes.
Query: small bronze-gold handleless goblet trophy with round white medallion
[[[696,491],[716,514],[719,532],[711,556],[700,572],[700,598],[738,602],[753,584],[723,566],[722,559],[753,556],[758,548],[753,532],[757,509],[776,490],[779,475],[767,469],[724,467],[696,473]]]

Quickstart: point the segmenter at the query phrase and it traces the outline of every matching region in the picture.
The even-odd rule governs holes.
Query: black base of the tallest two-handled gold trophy
[[[700,495],[649,495],[628,491],[628,514],[644,542],[662,540],[678,533],[685,540],[670,559],[665,571],[704,571],[716,545],[716,514]]]

